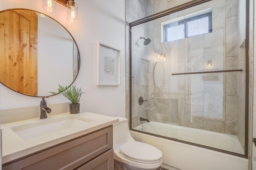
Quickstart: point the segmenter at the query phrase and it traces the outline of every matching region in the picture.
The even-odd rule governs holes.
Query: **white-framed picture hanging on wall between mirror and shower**
[[[97,42],[96,85],[120,85],[120,50]]]

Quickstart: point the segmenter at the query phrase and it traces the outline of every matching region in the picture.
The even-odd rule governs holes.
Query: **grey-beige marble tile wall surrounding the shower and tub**
[[[126,21],[155,14],[190,0],[126,0]],[[160,23],[173,17],[212,7],[213,32],[161,43]],[[245,48],[238,42],[238,1],[212,0],[132,27],[132,126],[143,116],[186,127],[238,135],[244,141],[245,72],[172,76],[176,72],[245,68]],[[127,24],[128,27],[128,24]],[[139,37],[152,41],[143,45]],[[126,39],[129,39],[126,29]],[[241,41],[242,42],[242,41]],[[126,41],[126,65],[129,65]],[[164,83],[154,83],[157,53],[165,53]],[[208,61],[212,62],[208,66]],[[126,68],[126,87],[129,87]],[[129,88],[126,88],[126,117],[129,117]],[[138,98],[148,102],[142,106]]]

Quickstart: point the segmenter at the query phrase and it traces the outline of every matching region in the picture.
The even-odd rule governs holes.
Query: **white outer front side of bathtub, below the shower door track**
[[[130,131],[136,141],[163,153],[163,164],[180,170],[248,170],[248,159]]]

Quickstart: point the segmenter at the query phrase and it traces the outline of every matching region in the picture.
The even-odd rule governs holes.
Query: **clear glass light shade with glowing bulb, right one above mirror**
[[[78,4],[72,0],[67,2],[67,20],[70,22],[78,21]]]

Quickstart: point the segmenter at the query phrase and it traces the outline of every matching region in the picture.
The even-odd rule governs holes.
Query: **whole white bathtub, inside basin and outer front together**
[[[134,129],[231,152],[241,154],[244,152],[235,135],[169,125],[154,121],[142,123]],[[248,170],[248,159],[246,158],[136,131],[130,131],[130,133],[136,141],[148,143],[160,149],[163,153],[163,167],[169,170]],[[223,145],[223,143],[227,145]]]

